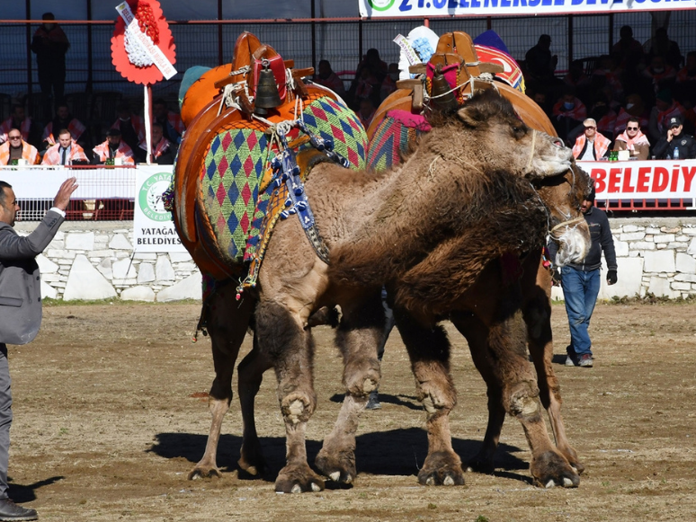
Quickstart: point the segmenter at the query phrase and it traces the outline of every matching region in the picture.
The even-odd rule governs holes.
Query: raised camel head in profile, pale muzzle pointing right
[[[467,128],[483,133],[477,151],[479,159],[495,163],[509,173],[530,181],[565,173],[573,160],[572,151],[558,137],[529,128],[513,105],[494,88],[472,96],[457,112]]]

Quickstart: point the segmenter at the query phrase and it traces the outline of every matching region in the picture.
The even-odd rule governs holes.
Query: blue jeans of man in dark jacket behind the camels
[[[571,267],[561,269],[561,287],[566,299],[570,327],[570,345],[567,348],[570,356],[592,355],[592,341],[587,328],[590,326],[594,304],[597,302],[600,283],[599,269],[589,272]]]

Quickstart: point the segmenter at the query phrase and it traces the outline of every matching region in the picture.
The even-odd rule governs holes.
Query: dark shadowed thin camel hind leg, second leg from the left
[[[244,433],[242,436],[241,455],[237,464],[250,475],[260,476],[265,469],[265,459],[261,443],[256,433],[254,420],[254,399],[263,380],[263,372],[272,367],[272,362],[265,357],[258,347],[258,337],[254,336],[254,348],[242,359],[237,367],[237,389],[242,408]]]

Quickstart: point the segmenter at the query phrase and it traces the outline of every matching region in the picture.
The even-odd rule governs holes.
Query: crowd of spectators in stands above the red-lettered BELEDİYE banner
[[[527,94],[576,157],[629,150],[638,159],[696,158],[696,51],[683,57],[665,28],[641,44],[625,25],[610,54],[576,60],[559,78],[550,46],[541,35],[521,64]]]

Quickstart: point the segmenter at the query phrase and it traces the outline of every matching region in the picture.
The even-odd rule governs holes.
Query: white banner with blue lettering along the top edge
[[[368,18],[434,16],[537,16],[539,14],[676,11],[696,8],[696,0],[358,0]]]

